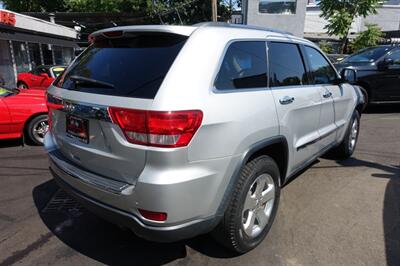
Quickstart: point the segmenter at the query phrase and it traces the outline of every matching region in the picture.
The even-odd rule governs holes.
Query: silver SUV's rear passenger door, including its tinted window
[[[298,44],[268,42],[268,61],[280,132],[287,138],[293,165],[301,166],[319,151],[320,91],[309,84]]]

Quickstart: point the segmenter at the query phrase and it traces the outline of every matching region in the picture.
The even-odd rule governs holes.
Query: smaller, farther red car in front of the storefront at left
[[[60,75],[65,66],[38,66],[30,72],[18,74],[17,87],[20,89],[43,89],[46,90],[50,84]]]

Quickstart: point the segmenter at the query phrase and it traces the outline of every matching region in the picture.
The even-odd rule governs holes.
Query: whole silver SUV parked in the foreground
[[[213,23],[90,38],[48,89],[50,168],[89,210],[145,239],[212,231],[247,252],[284,184],[327,151],[354,152],[355,72],[340,78],[312,42]]]

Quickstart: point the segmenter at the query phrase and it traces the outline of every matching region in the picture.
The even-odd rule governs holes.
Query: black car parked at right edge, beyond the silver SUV
[[[338,71],[348,67],[357,71],[356,84],[364,94],[365,107],[369,103],[400,103],[400,46],[367,48],[335,66]]]

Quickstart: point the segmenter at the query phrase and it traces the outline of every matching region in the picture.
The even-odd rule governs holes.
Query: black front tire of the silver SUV
[[[350,142],[351,142],[350,135],[352,134],[354,121],[357,121],[357,126],[356,126],[357,133],[355,134],[356,138],[355,138],[354,145],[350,145]],[[356,110],[356,111],[354,111],[353,116],[351,117],[349,126],[347,127],[345,136],[343,138],[343,141],[339,144],[339,146],[337,146],[334,150],[332,150],[332,155],[336,159],[344,160],[344,159],[350,158],[356,149],[359,132],[360,132],[360,114]],[[354,132],[353,132],[353,135],[354,135]]]

